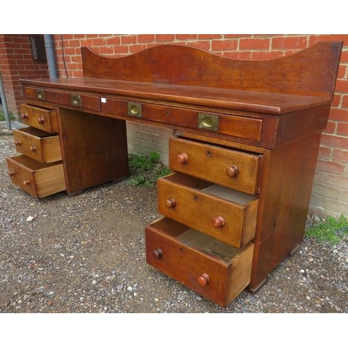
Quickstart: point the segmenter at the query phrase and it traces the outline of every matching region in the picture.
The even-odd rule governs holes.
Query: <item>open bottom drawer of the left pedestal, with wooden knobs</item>
[[[10,178],[16,186],[36,198],[65,190],[63,164],[42,164],[19,155],[7,159]]]

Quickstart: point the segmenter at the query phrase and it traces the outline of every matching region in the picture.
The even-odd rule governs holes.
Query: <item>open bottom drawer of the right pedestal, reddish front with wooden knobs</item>
[[[226,252],[221,242],[167,218],[145,227],[145,244],[148,264],[219,306],[227,306],[250,282],[253,244]]]

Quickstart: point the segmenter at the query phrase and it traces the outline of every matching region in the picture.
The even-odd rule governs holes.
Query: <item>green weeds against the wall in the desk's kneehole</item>
[[[159,161],[159,153],[150,151],[148,156],[129,153],[128,164],[131,177],[127,180],[130,186],[153,187],[157,178],[171,173],[171,169]]]

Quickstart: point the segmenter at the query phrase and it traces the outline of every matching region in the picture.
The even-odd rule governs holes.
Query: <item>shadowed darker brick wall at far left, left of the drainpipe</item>
[[[8,110],[17,116],[24,100],[19,79],[48,77],[47,63],[33,60],[29,35],[2,34],[0,67]]]

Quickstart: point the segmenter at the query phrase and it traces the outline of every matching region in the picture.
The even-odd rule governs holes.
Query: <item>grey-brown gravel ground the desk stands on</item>
[[[40,200],[15,187],[0,136],[0,313],[347,313],[348,239],[304,239],[256,294],[220,308],[145,262],[157,190],[103,184]],[[308,224],[319,218],[313,214]]]

